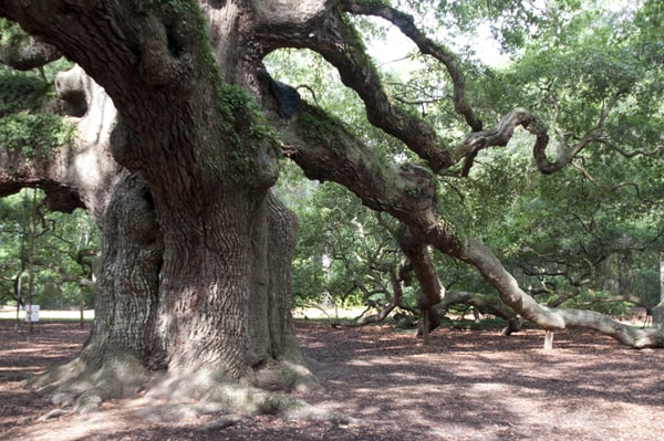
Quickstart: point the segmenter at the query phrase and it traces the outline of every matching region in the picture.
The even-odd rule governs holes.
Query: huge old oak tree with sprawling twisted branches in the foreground
[[[415,12],[432,6],[402,6],[408,3]],[[447,2],[435,7],[440,20],[455,11]],[[519,17],[536,23],[535,10],[522,7]],[[498,18],[513,17],[501,11]],[[466,12],[473,19],[477,11]],[[609,145],[604,128],[639,83],[605,78],[600,86],[588,78],[588,88],[577,92],[594,94],[596,106],[579,119],[558,117],[567,116],[561,112],[547,120],[526,107],[532,103],[516,99],[484,122],[468,98],[461,59],[427,35],[426,22],[386,1],[6,0],[0,15],[32,35],[17,32],[7,43],[17,48],[20,39],[32,50],[10,51],[3,62],[35,66],[17,60],[37,53],[77,63],[55,80],[76,140],[41,156],[17,146],[0,151],[3,193],[41,187],[53,208],[85,207],[102,231],[92,335],[77,358],[40,379],[62,401],[94,408],[136,392],[156,372],[163,376],[152,393],[253,410],[277,403],[252,387],[315,387],[289,308],[295,219],[270,191],[282,155],[309,178],[341,183],[401,222],[400,246],[422,288],[423,311],[445,295],[435,249],[475,266],[505,305],[543,328],[579,326],[634,347],[664,345],[660,328],[538,304],[489,248],[455,228],[454,207],[436,202],[440,176],[467,176],[483,150],[505,146],[519,127],[543,174]],[[396,27],[443,66],[446,118],[432,122],[393,98],[356,29],[354,18],[367,15]],[[522,38],[504,36],[507,43]],[[262,62],[281,48],[311,50],[334,66],[367,120],[417,164],[372,149],[339,117],[272,78]],[[568,87],[560,96],[573,93]],[[444,132],[442,123],[454,129]]]

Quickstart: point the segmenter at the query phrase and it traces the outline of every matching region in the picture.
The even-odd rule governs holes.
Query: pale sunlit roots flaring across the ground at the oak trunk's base
[[[43,419],[70,412],[90,413],[98,410],[104,401],[129,398],[137,409],[143,409],[141,411],[152,409],[149,418],[155,422],[224,413],[203,426],[201,431],[222,429],[256,414],[339,423],[353,421],[289,395],[290,391],[322,390],[308,367],[292,361],[274,361],[238,380],[215,369],[151,372],[131,356],[105,359],[101,368],[91,369],[84,358],[85,350],[68,364],[28,381],[28,386],[51,393],[52,402],[60,407]]]

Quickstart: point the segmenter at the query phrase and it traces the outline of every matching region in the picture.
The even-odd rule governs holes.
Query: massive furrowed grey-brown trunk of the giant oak
[[[80,357],[38,384],[56,386],[61,401],[80,395],[80,409],[135,392],[151,372],[167,372],[168,388],[155,392],[178,397],[219,397],[229,381],[315,385],[290,316],[295,221],[269,192],[277,179],[273,135],[250,94],[230,85],[255,88],[263,55],[245,41],[249,11],[204,4],[217,44],[210,48],[195,2],[101,8],[0,7],[77,61],[117,109],[110,141],[102,136],[86,146],[110,182],[77,185],[70,176],[75,164],[62,157],[58,188],[87,207],[102,230],[97,319]],[[73,114],[100,112],[76,94],[87,77],[59,81]],[[14,187],[49,190],[49,179],[37,171]],[[256,406],[245,398],[237,405]]]

